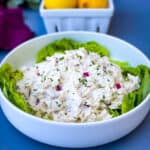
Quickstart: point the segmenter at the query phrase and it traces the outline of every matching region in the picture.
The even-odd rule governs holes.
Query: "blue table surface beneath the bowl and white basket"
[[[115,15],[109,34],[120,37],[150,57],[150,1],[115,0]],[[46,33],[38,11],[25,10],[26,24],[36,36]],[[7,54],[0,51],[0,61]],[[115,135],[114,135],[115,136]],[[36,142],[16,130],[0,109],[0,150],[56,150],[61,149]],[[150,113],[132,133],[118,141],[89,148],[95,150],[148,150],[150,149]]]

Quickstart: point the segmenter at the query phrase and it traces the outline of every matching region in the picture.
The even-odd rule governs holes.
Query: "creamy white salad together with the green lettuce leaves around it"
[[[36,63],[0,66],[0,88],[16,107],[58,122],[95,122],[120,116],[150,93],[150,68],[114,60],[95,41],[58,39]]]

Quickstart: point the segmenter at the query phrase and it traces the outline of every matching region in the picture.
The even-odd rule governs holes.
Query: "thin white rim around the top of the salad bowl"
[[[42,39],[42,38],[46,38],[46,37],[53,37],[53,36],[57,36],[57,35],[71,35],[71,34],[88,34],[88,35],[100,35],[101,37],[105,37],[105,38],[109,38],[112,40],[117,40],[118,42],[124,44],[124,45],[128,45],[128,47],[131,47],[133,49],[133,51],[135,51],[136,53],[138,53],[139,55],[141,55],[146,62],[148,63],[148,66],[150,66],[150,60],[148,59],[148,57],[146,55],[144,55],[143,52],[141,52],[137,47],[133,46],[132,44],[118,38],[115,36],[111,36],[111,35],[107,35],[104,33],[96,33],[96,32],[89,32],[89,31],[66,31],[66,32],[57,32],[57,33],[50,33],[50,34],[46,34],[46,35],[42,35],[39,37],[35,37],[33,39],[30,39],[22,44],[20,44],[19,46],[17,46],[16,48],[14,48],[11,52],[9,52],[0,62],[0,66],[2,64],[5,63],[5,61],[7,60],[8,57],[10,57],[13,53],[15,53],[19,48],[25,46],[26,44],[30,44],[36,40]],[[17,113],[21,113],[21,115],[24,115],[25,117],[29,117],[30,119],[35,119],[36,121],[40,121],[41,123],[46,123],[46,124],[51,124],[51,125],[57,125],[57,126],[74,126],[74,127],[78,127],[78,126],[93,126],[93,125],[104,125],[107,123],[111,123],[111,122],[117,122],[118,120],[121,119],[125,119],[128,116],[136,113],[141,107],[143,107],[145,105],[145,103],[147,103],[148,100],[150,100],[150,93],[147,95],[147,97],[135,108],[133,108],[132,110],[130,110],[129,112],[126,112],[124,114],[121,114],[120,116],[111,118],[109,120],[103,120],[103,121],[95,121],[95,122],[81,122],[81,123],[74,123],[74,122],[59,122],[59,121],[54,121],[54,120],[46,120],[34,115],[31,115],[27,112],[24,112],[23,110],[21,110],[20,108],[18,108],[17,106],[15,106],[13,103],[11,103],[3,94],[2,90],[0,89],[0,104],[2,103],[1,101],[4,100],[4,102],[11,107],[11,109],[14,109]],[[2,109],[3,110],[3,109]]]

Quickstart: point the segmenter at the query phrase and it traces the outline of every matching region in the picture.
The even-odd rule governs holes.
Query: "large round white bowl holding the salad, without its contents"
[[[10,63],[18,68],[23,64],[33,63],[40,48],[63,37],[82,42],[94,40],[106,46],[113,58],[128,61],[133,66],[150,66],[148,58],[134,46],[112,36],[90,32],[62,32],[35,38],[15,48],[4,58],[2,64]],[[150,109],[149,94],[135,109],[108,121],[60,123],[27,114],[7,100],[1,91],[0,96],[4,114],[19,131],[46,144],[71,148],[97,146],[117,140],[135,129]]]

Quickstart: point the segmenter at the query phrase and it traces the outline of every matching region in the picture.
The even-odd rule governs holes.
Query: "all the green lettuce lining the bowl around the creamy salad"
[[[78,49],[80,47],[84,47],[89,52],[96,52],[100,56],[110,57],[109,50],[94,41],[82,43],[64,38],[54,41],[39,50],[36,56],[36,62],[40,63],[44,61],[47,56],[52,56],[56,52],[63,53],[65,50]],[[139,76],[140,78],[140,88],[125,95],[122,104],[118,109],[109,109],[112,116],[116,117],[135,108],[150,93],[150,68],[145,65],[131,67],[127,62],[120,62],[112,60],[111,58],[110,60],[112,63],[121,67],[124,77],[130,73],[132,75]],[[0,88],[8,100],[10,100],[14,105],[27,113],[34,114],[35,111],[30,108],[26,100],[24,100],[21,94],[16,90],[16,82],[21,80],[22,77],[23,74],[19,70],[13,70],[10,64],[3,64],[0,67]]]

